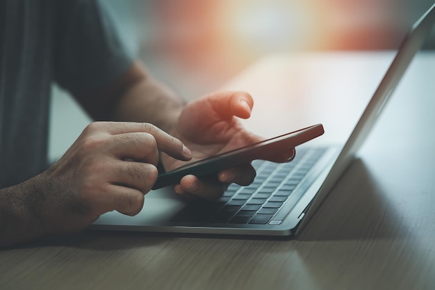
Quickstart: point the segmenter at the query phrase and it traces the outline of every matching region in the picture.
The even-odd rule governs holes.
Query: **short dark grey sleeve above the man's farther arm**
[[[54,79],[72,94],[101,88],[133,63],[99,0],[63,0],[56,15]]]

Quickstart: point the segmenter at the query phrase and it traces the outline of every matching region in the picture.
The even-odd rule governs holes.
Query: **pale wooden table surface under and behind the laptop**
[[[319,142],[335,142],[352,130],[392,56],[270,56],[226,88],[252,92],[245,126],[258,134],[322,122]],[[434,70],[435,53],[416,57],[297,238],[82,232],[0,250],[0,288],[434,289]]]

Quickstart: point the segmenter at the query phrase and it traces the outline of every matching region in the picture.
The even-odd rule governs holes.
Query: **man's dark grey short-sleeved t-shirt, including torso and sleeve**
[[[47,166],[49,94],[110,83],[131,66],[98,0],[0,0],[0,188]]]

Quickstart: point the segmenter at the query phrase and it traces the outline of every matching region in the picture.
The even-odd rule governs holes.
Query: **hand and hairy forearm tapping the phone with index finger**
[[[0,215],[8,239],[1,244],[76,232],[107,211],[137,214],[156,182],[158,152],[191,158],[180,140],[151,124],[90,124],[47,171],[1,192],[12,204]]]

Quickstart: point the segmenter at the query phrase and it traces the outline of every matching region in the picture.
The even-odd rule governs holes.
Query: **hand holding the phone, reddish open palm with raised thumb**
[[[263,140],[260,136],[245,130],[238,118],[249,118],[254,101],[247,92],[215,92],[188,104],[170,131],[192,150],[197,161],[208,156],[227,152]],[[271,161],[290,161],[293,149],[281,156],[273,156]],[[184,163],[162,154],[163,166],[171,170]],[[250,164],[229,168],[217,173],[215,179],[198,179],[186,175],[174,191],[180,195],[196,195],[206,199],[218,198],[228,184],[246,186],[252,183],[256,172]]]

